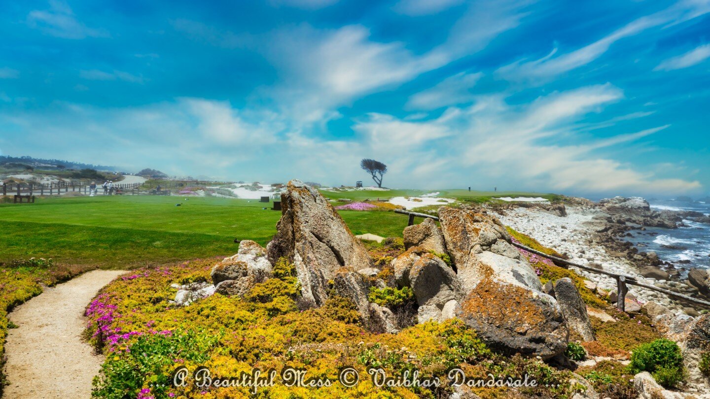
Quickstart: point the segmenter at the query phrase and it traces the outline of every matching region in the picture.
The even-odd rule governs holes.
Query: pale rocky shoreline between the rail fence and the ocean
[[[675,229],[684,219],[706,222],[700,212],[684,212],[650,208],[638,197],[615,197],[600,202],[567,197],[557,204],[505,204],[494,206],[501,221],[542,245],[556,248],[570,261],[613,273],[633,275],[640,283],[655,285],[675,293],[707,299],[710,279],[705,270],[682,273],[682,262],[662,261],[656,253],[639,251],[626,237],[631,230],[646,227]],[[643,234],[643,233],[642,233]],[[649,232],[648,234],[655,234]],[[601,290],[616,291],[616,281],[606,275],[575,270],[596,283]],[[675,312],[699,315],[691,303],[670,300],[667,295],[640,287],[630,287],[630,295],[641,304],[654,301]]]

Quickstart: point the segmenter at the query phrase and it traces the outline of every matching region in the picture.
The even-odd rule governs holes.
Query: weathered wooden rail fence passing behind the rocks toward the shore
[[[434,219],[437,221],[439,220],[438,217],[432,216],[430,214],[409,212],[409,211],[405,211],[403,209],[395,209],[395,212],[400,213],[400,214],[409,215],[408,226],[412,226],[414,224],[415,217],[428,217],[430,219]],[[616,280],[616,296],[617,296],[616,308],[621,311],[625,310],[625,303],[624,302],[626,300],[626,293],[628,293],[628,285],[636,285],[638,287],[646,288],[648,290],[653,290],[653,291],[657,291],[659,293],[664,293],[665,295],[668,295],[669,297],[675,298],[677,300],[684,300],[686,302],[691,302],[695,305],[701,305],[703,307],[707,307],[710,309],[710,302],[708,302],[706,300],[701,300],[698,298],[689,297],[688,295],[683,295],[680,293],[674,293],[671,290],[666,290],[665,288],[656,287],[655,285],[648,285],[648,284],[644,284],[644,283],[639,283],[636,280],[636,278],[633,277],[632,275],[611,273],[606,270],[599,270],[597,268],[579,265],[577,263],[567,261],[567,259],[558,258],[557,256],[552,256],[552,255],[548,255],[547,253],[544,253],[544,252],[536,251],[535,249],[528,248],[527,246],[524,246],[523,244],[519,244],[516,242],[513,242],[513,245],[517,246],[518,248],[524,249],[525,251],[535,253],[535,255],[537,255],[537,256],[542,256],[543,258],[550,259],[550,261],[554,262],[558,266],[562,266],[562,267],[566,267],[566,268],[569,268],[569,266],[572,266],[574,268],[586,270],[591,273],[608,275],[609,277],[613,278],[614,280]]]

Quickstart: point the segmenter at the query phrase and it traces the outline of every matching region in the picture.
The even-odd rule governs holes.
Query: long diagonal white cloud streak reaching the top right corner
[[[518,60],[498,68],[496,72],[507,80],[542,84],[596,60],[618,40],[637,35],[649,28],[682,23],[709,13],[709,3],[707,0],[678,1],[665,10],[638,18],[596,42],[570,53],[557,54],[555,48],[543,58],[532,61]]]

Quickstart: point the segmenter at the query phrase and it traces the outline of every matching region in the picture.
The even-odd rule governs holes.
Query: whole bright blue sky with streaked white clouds
[[[710,0],[3,1],[0,153],[706,195]]]

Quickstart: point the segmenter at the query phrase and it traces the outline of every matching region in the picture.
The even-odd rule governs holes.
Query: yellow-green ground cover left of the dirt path
[[[0,263],[0,395],[5,385],[2,374],[7,329],[13,328],[7,313],[16,305],[42,293],[45,285],[55,285],[85,271],[77,266],[56,265],[52,259],[19,259]]]

